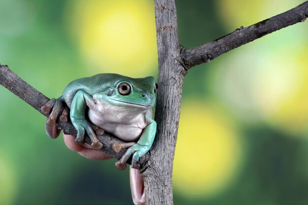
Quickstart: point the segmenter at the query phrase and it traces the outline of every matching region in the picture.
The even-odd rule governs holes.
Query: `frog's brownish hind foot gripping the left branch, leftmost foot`
[[[59,136],[60,132],[61,132],[61,130],[58,129],[58,126],[56,125],[57,117],[58,117],[59,113],[62,111],[62,115],[60,116],[60,120],[62,122],[66,122],[69,110],[66,107],[66,105],[63,104],[61,99],[52,98],[44,106],[41,107],[41,112],[45,115],[49,114],[50,111],[51,111],[51,114],[46,120],[46,126],[45,126],[46,133],[51,138],[57,138]]]

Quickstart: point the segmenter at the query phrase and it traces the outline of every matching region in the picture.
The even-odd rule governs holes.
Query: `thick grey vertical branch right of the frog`
[[[182,85],[175,0],[155,0],[158,52],[157,135],[143,170],[147,205],[172,205],[172,167],[180,118]]]

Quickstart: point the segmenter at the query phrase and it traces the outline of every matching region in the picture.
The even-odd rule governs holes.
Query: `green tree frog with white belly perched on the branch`
[[[62,122],[70,118],[77,130],[75,143],[80,145],[84,145],[86,132],[91,139],[90,148],[101,149],[97,135],[106,131],[124,141],[112,145],[115,152],[127,148],[116,167],[125,169],[132,156],[131,167],[139,169],[138,160],[150,150],[156,134],[152,108],[157,89],[152,76],[130,78],[101,73],[74,80],[64,88],[62,96],[52,98],[41,107],[43,114],[50,114],[46,120],[46,133],[51,138],[59,136],[61,130],[56,120],[60,114]]]

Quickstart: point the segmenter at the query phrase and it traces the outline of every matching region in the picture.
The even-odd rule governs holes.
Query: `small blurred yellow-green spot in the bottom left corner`
[[[15,191],[16,181],[13,169],[9,163],[0,158],[0,205],[13,204]]]

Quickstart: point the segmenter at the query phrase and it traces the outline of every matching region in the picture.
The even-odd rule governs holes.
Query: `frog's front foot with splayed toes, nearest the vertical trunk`
[[[119,153],[122,148],[127,148],[129,147],[122,158],[116,162],[116,167],[119,170],[125,170],[126,169],[126,162],[128,158],[132,155],[132,160],[131,160],[131,167],[134,169],[139,169],[140,164],[138,162],[139,158],[143,156],[145,153],[149,151],[151,146],[143,146],[138,143],[114,143],[112,145],[112,148],[115,152]]]

